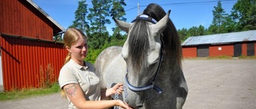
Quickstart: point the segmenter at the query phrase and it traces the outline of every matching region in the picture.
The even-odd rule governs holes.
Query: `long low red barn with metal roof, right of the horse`
[[[256,56],[256,30],[189,37],[183,57]]]

